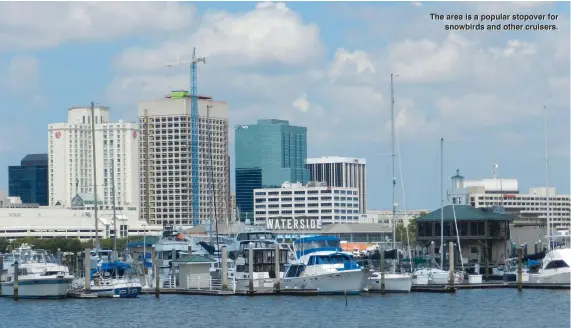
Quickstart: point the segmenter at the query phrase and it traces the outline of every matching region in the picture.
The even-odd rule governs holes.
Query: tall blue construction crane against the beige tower
[[[196,66],[198,63],[206,64],[206,57],[196,57],[196,47],[192,50],[192,60],[180,61],[167,64],[168,67],[190,64],[190,156],[191,156],[191,184],[192,184],[192,224],[197,225],[199,221],[200,196],[198,194],[198,83],[196,78]]]

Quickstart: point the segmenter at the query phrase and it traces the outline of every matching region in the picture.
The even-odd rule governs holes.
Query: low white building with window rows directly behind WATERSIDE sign
[[[359,223],[359,189],[315,182],[254,189],[254,224],[265,225],[268,218],[280,217],[307,217],[322,224]]]

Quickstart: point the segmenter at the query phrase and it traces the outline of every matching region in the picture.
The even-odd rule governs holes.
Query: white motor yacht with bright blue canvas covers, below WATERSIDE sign
[[[312,289],[318,294],[359,294],[365,271],[335,236],[303,237],[293,242],[296,260],[282,279],[282,288]]]

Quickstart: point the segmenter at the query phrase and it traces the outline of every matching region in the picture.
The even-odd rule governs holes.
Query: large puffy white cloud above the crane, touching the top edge
[[[197,31],[177,35],[157,47],[127,49],[115,66],[157,70],[169,59],[189,57],[195,46],[198,55],[209,57],[219,67],[299,65],[318,58],[322,51],[317,25],[304,23],[284,3],[268,2],[245,13],[207,12]]]

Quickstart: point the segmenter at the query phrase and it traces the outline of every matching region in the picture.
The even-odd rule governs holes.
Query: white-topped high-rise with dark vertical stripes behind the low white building
[[[312,181],[325,181],[331,187],[359,189],[359,213],[367,212],[367,162],[361,158],[325,156],[308,158]]]

